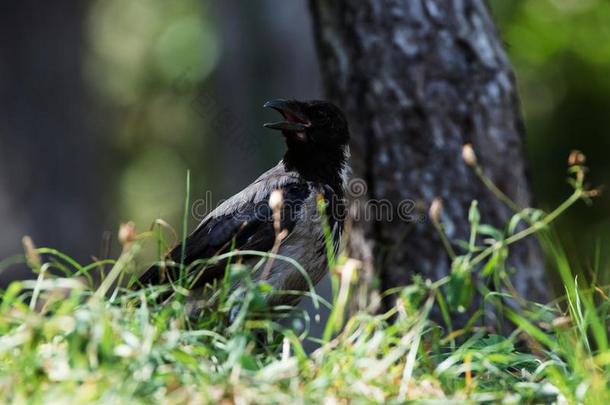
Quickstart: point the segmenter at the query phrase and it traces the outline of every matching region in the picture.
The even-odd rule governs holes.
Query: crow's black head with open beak
[[[284,120],[267,123],[265,127],[282,131],[289,149],[343,149],[349,142],[343,112],[328,101],[279,99],[266,102],[264,107],[273,108],[284,117]]]

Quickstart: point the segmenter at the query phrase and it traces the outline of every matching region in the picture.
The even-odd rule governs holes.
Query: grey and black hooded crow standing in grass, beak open
[[[292,258],[315,284],[327,270],[325,222],[331,231],[335,252],[339,246],[349,167],[349,130],[345,116],[334,104],[319,100],[280,99],[269,101],[264,107],[273,108],[283,116],[281,121],[264,126],[281,132],[286,153],[275,167],[207,215],[186,238],[184,248],[178,245],[169,253],[168,262],[183,260],[191,275],[197,272],[194,288],[212,285],[222,278],[226,263],[189,265],[231,249],[274,251]],[[281,192],[281,198],[276,190]],[[270,198],[274,200],[271,203]],[[323,216],[319,199],[326,206]],[[260,257],[245,256],[242,260],[255,264]],[[175,279],[177,267],[165,269],[155,265],[141,276],[140,282],[160,284],[167,278]],[[280,259],[268,266],[259,266],[252,279],[266,281],[276,290],[305,291],[308,286],[293,264]],[[274,294],[268,301],[273,305],[294,305],[299,298]]]

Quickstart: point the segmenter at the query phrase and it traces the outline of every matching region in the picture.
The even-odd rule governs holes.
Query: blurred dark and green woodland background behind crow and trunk
[[[607,183],[610,2],[490,6],[519,83],[538,206],[570,193],[572,149],[593,185]],[[120,222],[180,230],[187,169],[192,199],[214,205],[281,158],[264,101],[323,97],[304,0],[23,0],[0,11],[0,258],[21,252],[25,234],[87,262],[118,255]],[[590,268],[610,237],[608,195],[559,231]],[[2,267],[1,284],[21,276]]]

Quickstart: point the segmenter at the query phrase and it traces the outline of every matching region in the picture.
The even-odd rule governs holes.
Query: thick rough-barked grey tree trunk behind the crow
[[[369,199],[412,200],[423,218],[435,197],[450,240],[467,240],[468,209],[502,227],[511,211],[462,160],[471,143],[484,172],[519,206],[531,194],[524,127],[510,63],[483,0],[311,0],[328,97],[347,113],[354,177]],[[437,280],[450,259],[427,218],[357,221],[375,257],[381,288],[414,274]],[[511,249],[520,294],[546,301],[544,262],[534,239]]]

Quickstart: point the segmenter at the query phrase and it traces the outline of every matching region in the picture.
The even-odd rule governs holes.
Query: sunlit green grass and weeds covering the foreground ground
[[[550,228],[570,205],[593,194],[584,188],[584,168],[573,166],[571,178],[574,194],[566,203],[550,213],[518,211],[505,229],[480,223],[473,204],[473,237],[455,254],[452,273],[441,280],[415,278],[395,291],[396,305],[388,312],[348,312],[359,263],[332,258],[333,309],[320,348],[309,354],[303,349],[310,339],[307,314],[288,317],[282,308],[268,307],[265,296],[279,292],[249,280],[250,269],[238,260],[243,252],[226,255],[232,263],[225,279],[194,310],[187,276],[156,288],[120,287],[136,274],[143,245],[159,243],[159,254],[164,251],[161,222],[143,234],[125,225],[121,256],[86,266],[26,239],[22,260],[39,276],[2,292],[0,398],[70,404],[609,403],[608,288],[576,276]],[[481,233],[486,242],[478,245]],[[524,302],[507,292],[506,253],[532,234],[565,288],[552,303]],[[269,259],[260,255],[262,262]],[[19,260],[10,258],[0,269]],[[96,269],[101,281],[91,276]],[[492,277],[501,292],[485,290],[477,277]],[[230,290],[237,279],[242,286]],[[170,298],[160,299],[164,293]],[[481,326],[481,312],[452,329],[452,314],[473,294],[502,312],[515,328],[509,336]],[[372,294],[368,307],[378,299]],[[430,316],[436,304],[442,324]],[[229,323],[233,308],[239,312]]]

